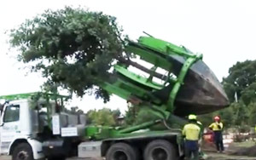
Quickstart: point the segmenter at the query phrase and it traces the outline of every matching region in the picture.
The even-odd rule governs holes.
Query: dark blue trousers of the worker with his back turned
[[[199,160],[199,146],[198,140],[185,141],[185,159],[186,160]]]

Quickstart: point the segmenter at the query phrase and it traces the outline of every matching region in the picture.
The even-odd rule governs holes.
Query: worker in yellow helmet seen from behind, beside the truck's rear
[[[199,145],[201,129],[197,124],[196,116],[189,115],[189,123],[183,128],[185,137],[185,157],[186,159],[199,160]]]

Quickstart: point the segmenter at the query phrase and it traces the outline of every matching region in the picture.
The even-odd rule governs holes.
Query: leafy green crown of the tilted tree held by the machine
[[[19,60],[42,72],[46,89],[96,94],[105,101],[109,95],[97,83],[108,79],[116,60],[129,57],[124,39],[115,17],[70,7],[47,10],[10,32]]]

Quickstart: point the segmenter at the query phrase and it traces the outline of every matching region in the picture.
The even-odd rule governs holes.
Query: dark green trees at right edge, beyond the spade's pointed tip
[[[228,122],[228,125],[255,125],[255,121],[253,122],[253,117],[256,117],[255,68],[256,60],[237,62],[236,65],[230,67],[229,76],[223,79],[224,90],[231,102],[229,111],[222,111],[224,115],[227,115],[224,116],[224,120]]]

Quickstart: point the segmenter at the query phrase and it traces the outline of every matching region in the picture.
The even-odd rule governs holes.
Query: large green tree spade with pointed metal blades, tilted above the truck
[[[136,105],[145,106],[150,102],[162,112],[177,113],[178,116],[192,112],[201,114],[228,106],[224,90],[202,62],[201,54],[193,54],[184,47],[154,37],[140,37],[138,42],[130,42],[126,50],[154,67],[148,69],[135,61],[120,60],[114,66],[115,74],[111,80],[101,84],[109,93]],[[147,71],[148,77],[129,70],[129,66]],[[156,72],[157,68],[167,71],[167,75]],[[153,77],[165,83],[156,83]],[[186,108],[180,111],[179,107]]]

